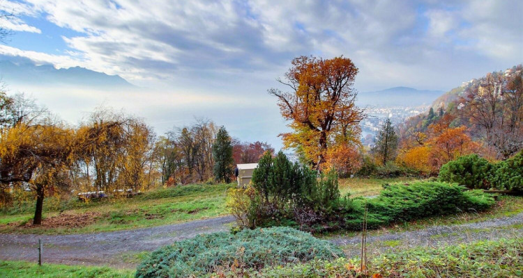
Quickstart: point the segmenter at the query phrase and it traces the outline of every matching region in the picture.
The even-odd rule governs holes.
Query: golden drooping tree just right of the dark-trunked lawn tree
[[[140,190],[149,182],[154,138],[143,120],[98,109],[79,126],[77,151],[87,186],[95,190]]]

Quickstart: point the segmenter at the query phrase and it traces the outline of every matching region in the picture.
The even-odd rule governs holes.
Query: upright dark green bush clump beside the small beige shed
[[[336,171],[330,170],[318,179],[316,171],[291,163],[282,152],[274,158],[265,154],[252,173],[251,183],[254,190],[249,196],[250,208],[245,209],[248,221],[240,222],[261,227],[283,222],[303,227],[303,224],[324,222],[333,208],[338,207],[340,199]],[[244,199],[236,197],[238,199],[231,204]]]

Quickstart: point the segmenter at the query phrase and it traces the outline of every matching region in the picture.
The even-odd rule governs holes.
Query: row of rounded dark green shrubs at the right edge
[[[441,166],[439,179],[467,188],[522,191],[523,151],[498,163],[477,154],[462,156]]]

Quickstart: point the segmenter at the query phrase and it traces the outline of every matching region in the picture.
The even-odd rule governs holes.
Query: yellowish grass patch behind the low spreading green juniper
[[[379,195],[381,186],[385,183],[412,183],[414,181],[420,181],[420,179],[410,177],[391,179],[349,178],[340,179],[339,188],[342,196],[347,195],[347,193],[350,193],[351,197],[374,196]]]

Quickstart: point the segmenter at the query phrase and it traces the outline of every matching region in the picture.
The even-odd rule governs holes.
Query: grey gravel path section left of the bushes
[[[166,226],[111,231],[97,234],[43,236],[33,234],[0,234],[0,259],[38,261],[38,238],[41,238],[44,263],[111,265],[135,268],[132,254],[156,250],[176,240],[198,234],[229,230],[232,215]]]

